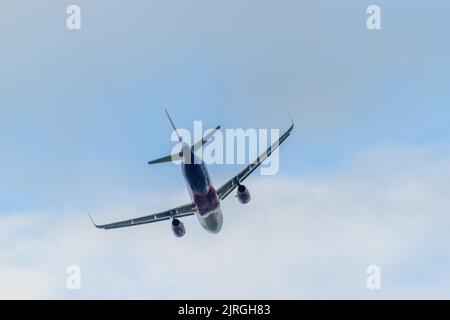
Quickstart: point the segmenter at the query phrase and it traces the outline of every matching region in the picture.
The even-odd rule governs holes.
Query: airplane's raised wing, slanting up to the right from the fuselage
[[[239,183],[244,181],[253,171],[255,171],[256,168],[258,168],[260,164],[272,154],[272,151],[278,148],[278,146],[283,143],[283,141],[286,140],[287,137],[289,137],[293,128],[294,123],[292,123],[289,129],[285,133],[283,133],[283,135],[277,141],[275,141],[270,147],[267,148],[266,151],[264,151],[258,158],[256,158],[255,161],[250,163],[244,170],[239,172],[227,183],[217,189],[217,194],[219,195],[220,199],[225,199],[231,193],[231,191],[233,191],[239,185]]]

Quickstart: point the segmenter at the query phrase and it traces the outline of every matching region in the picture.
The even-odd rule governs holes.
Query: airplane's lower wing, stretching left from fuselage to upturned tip
[[[135,218],[135,219],[123,220],[123,221],[118,221],[118,222],[113,222],[113,223],[108,223],[108,224],[103,224],[103,225],[96,224],[90,215],[89,215],[89,217],[91,218],[91,221],[95,227],[97,227],[99,229],[107,230],[107,229],[116,229],[116,228],[137,226],[137,225],[141,225],[141,224],[145,224],[145,223],[159,222],[159,221],[169,220],[172,217],[181,218],[181,217],[192,216],[195,214],[196,211],[197,211],[197,207],[195,206],[195,203],[192,202],[192,203],[186,204],[184,206],[176,207],[171,210],[167,210],[167,211],[163,211],[163,212],[159,212],[159,213],[155,213],[155,214],[150,214],[150,215]]]

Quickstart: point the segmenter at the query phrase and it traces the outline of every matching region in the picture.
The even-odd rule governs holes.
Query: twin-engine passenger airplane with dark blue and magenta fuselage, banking
[[[167,211],[146,215],[139,218],[113,222],[109,224],[98,225],[94,222],[91,215],[88,213],[92,224],[99,229],[116,229],[123,227],[138,226],[146,223],[154,223],[159,221],[172,220],[171,229],[173,234],[181,238],[186,234],[186,228],[180,221],[180,218],[196,215],[200,225],[208,232],[216,234],[219,233],[223,225],[223,215],[220,207],[220,202],[223,201],[234,189],[237,188],[236,197],[240,203],[245,204],[250,201],[250,192],[242,182],[251,174],[259,165],[267,159],[278,146],[286,140],[294,128],[294,121],[286,132],[269,146],[266,151],[260,154],[252,163],[250,163],[244,170],[239,172],[236,176],[231,178],[228,182],[223,184],[217,190],[211,183],[211,178],[208,174],[205,164],[197,157],[195,151],[206,144],[209,139],[220,129],[217,126],[210,133],[206,134],[202,140],[189,146],[183,142],[182,137],[178,134],[177,128],[172,121],[167,110],[164,110],[170,124],[176,133],[181,144],[181,151],[178,154],[169,155],[149,161],[148,164],[157,164],[181,160],[181,169],[187,189],[189,191],[192,202],[182,205]]]

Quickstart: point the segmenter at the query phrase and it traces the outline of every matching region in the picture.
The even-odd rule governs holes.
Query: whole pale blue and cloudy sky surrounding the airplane
[[[81,8],[68,30],[66,8]],[[366,9],[381,9],[381,30]],[[0,298],[450,298],[448,1],[4,1]],[[98,222],[189,201],[177,126],[295,120],[224,228]],[[208,166],[220,186],[243,165]],[[79,265],[80,290],[66,268]],[[367,267],[381,270],[379,290]]]

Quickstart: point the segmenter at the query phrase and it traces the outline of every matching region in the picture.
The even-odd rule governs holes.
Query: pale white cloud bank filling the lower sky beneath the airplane
[[[408,148],[360,153],[339,174],[303,181],[254,177],[253,201],[223,203],[219,235],[186,218],[100,231],[77,210],[0,217],[1,298],[449,298],[449,158]],[[97,219],[161,209],[164,195],[130,195]],[[82,268],[68,291],[67,265]],[[366,267],[382,270],[369,291]]]

